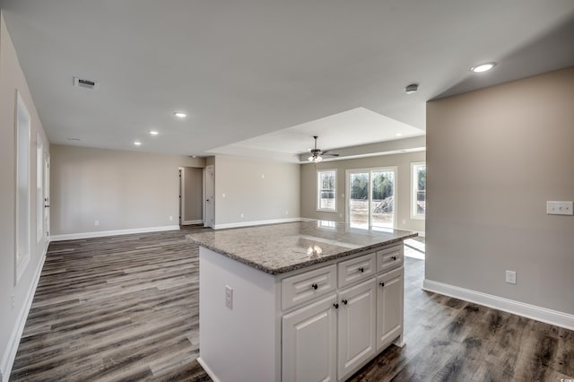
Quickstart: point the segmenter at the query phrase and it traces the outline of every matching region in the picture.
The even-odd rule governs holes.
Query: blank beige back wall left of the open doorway
[[[52,145],[52,234],[178,225],[183,166],[204,159]]]

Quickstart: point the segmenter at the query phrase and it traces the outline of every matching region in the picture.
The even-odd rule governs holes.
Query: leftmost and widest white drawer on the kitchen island
[[[292,308],[336,289],[336,267],[329,265],[296,274],[281,282],[281,307]]]

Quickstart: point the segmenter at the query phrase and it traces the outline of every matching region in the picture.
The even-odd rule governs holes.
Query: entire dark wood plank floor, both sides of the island
[[[10,380],[211,380],[196,362],[187,232],[50,244]],[[406,345],[352,381],[574,378],[574,332],[422,291],[423,275],[424,261],[405,257]]]

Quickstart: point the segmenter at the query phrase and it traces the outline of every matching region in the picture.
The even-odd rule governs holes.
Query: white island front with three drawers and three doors
[[[283,382],[344,380],[402,345],[403,288],[402,243],[283,278]]]

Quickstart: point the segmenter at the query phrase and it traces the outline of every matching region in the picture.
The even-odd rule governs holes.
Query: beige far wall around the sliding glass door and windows
[[[396,225],[399,230],[424,232],[424,220],[411,219],[411,163],[425,161],[425,152],[380,155],[344,161],[301,165],[301,217],[345,221],[345,170],[396,167]],[[337,170],[337,212],[317,212],[317,170]]]

